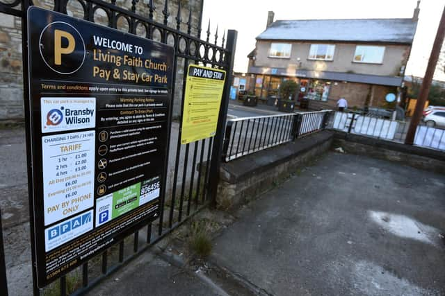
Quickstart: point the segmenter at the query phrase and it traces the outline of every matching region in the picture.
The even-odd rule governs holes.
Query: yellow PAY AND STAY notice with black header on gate
[[[216,134],[226,72],[188,66],[181,143],[191,143]]]

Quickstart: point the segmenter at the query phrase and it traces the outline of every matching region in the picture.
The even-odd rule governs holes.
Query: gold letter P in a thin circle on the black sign
[[[39,49],[44,63],[60,74],[76,72],[85,61],[85,42],[81,34],[64,21],[54,21],[43,28]]]

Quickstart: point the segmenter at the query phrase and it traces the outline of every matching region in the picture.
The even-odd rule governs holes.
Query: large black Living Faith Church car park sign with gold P
[[[159,216],[172,46],[28,10],[38,287]]]

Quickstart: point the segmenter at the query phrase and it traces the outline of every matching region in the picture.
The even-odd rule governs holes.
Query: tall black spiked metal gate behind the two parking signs
[[[68,14],[70,6],[74,0],[54,0],[51,2],[51,9],[57,12]],[[170,134],[168,135],[168,150],[170,150],[168,175],[167,175],[167,189],[165,191],[165,198],[161,201],[161,214],[158,220],[153,223],[145,225],[138,229],[133,235],[118,242],[116,245],[109,247],[100,256],[100,263],[92,259],[81,266],[81,285],[80,288],[74,291],[74,295],[85,293],[87,290],[99,283],[111,272],[120,268],[124,263],[133,259],[137,254],[143,252],[150,245],[161,240],[165,235],[169,234],[172,229],[175,229],[181,223],[184,223],[187,218],[193,216],[203,207],[213,204],[216,198],[216,190],[218,185],[218,171],[220,166],[221,153],[223,150],[223,137],[225,118],[227,116],[227,106],[229,98],[229,89],[232,82],[232,69],[234,64],[234,52],[236,45],[236,31],[229,30],[227,32],[227,43],[225,44],[226,36],[223,34],[222,40],[218,41],[218,28],[214,35],[214,42],[211,43],[210,25],[207,29],[206,40],[201,40],[200,35],[202,28],[200,22],[192,24],[191,8],[188,8],[188,19],[181,18],[181,3],[178,0],[178,8],[174,13],[176,16],[175,28],[168,26],[168,17],[170,16],[169,1],[163,1],[161,9],[154,6],[153,0],[148,1],[131,1],[129,8],[122,8],[117,5],[116,0],[102,1],[102,0],[75,0],[79,3],[81,10],[83,10],[83,19],[87,21],[95,21],[95,13],[102,10],[108,19],[108,26],[111,28],[120,28],[120,19],[127,21],[125,29],[129,33],[138,33],[138,28],[145,29],[143,37],[148,39],[158,39],[160,42],[172,44],[175,48],[175,61],[173,69],[173,89],[172,89],[172,103],[170,104]],[[204,0],[202,0],[204,1]],[[127,3],[129,3],[128,1]],[[202,2],[201,2],[202,3]],[[29,84],[28,84],[28,56],[26,48],[26,10],[33,5],[32,0],[0,0],[0,12],[8,15],[19,17],[22,20],[22,54],[23,54],[23,81],[24,81],[24,112],[26,114],[26,153],[28,162],[29,180],[31,174],[31,158],[30,158],[30,123],[29,123]],[[139,6],[145,6],[148,10],[148,15],[140,15],[136,13]],[[201,6],[202,9],[202,6]],[[157,13],[163,17],[163,22],[154,20],[154,14]],[[173,13],[173,12],[172,12]],[[185,22],[186,21],[186,22]],[[186,32],[181,32],[181,27],[186,27]],[[196,36],[191,35],[192,31],[196,31]],[[213,40],[213,36],[212,36]],[[220,45],[218,45],[220,43]],[[227,71],[227,78],[225,80],[225,87],[223,92],[223,100],[220,107],[220,114],[218,118],[218,129],[214,137],[202,139],[186,145],[181,145],[181,117],[184,109],[184,89],[186,81],[186,71],[188,64],[202,64],[207,67],[217,69],[224,69]],[[181,70],[182,75],[178,75]],[[178,97],[179,100],[175,100]],[[175,105],[177,104],[177,105]],[[179,106],[180,104],[180,106]],[[172,110],[179,107],[181,114],[178,118],[172,121]],[[177,133],[172,132],[177,130]],[[167,152],[169,153],[169,151]],[[31,193],[31,188],[29,189]],[[31,200],[30,200],[31,202]],[[30,212],[30,224],[33,227],[33,213]],[[1,224],[0,224],[1,225]],[[1,226],[0,226],[1,227]],[[1,229],[0,229],[1,236]],[[145,237],[142,237],[145,236]],[[131,240],[131,241],[129,241]],[[141,243],[142,242],[142,243]],[[0,251],[3,251],[3,241],[0,238]],[[108,263],[108,259],[112,250],[117,252],[118,260],[115,264]],[[117,250],[116,250],[117,249]],[[126,250],[127,249],[127,250]],[[129,252],[130,250],[130,252]],[[32,261],[35,262],[34,250],[32,252]],[[128,256],[125,254],[130,253]],[[3,256],[2,256],[3,257]],[[4,262],[0,261],[0,291],[6,293],[8,288],[6,286],[6,275],[3,275]],[[92,272],[94,270],[95,272]],[[92,274],[97,277],[92,278]],[[4,281],[3,281],[4,279]],[[67,278],[60,277],[60,295],[67,294]],[[3,295],[2,294],[2,295]],[[35,274],[33,274],[33,294],[40,295],[40,290],[36,286]]]

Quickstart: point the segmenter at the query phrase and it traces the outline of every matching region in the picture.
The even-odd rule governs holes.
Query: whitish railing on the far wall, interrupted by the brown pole
[[[407,121],[393,121],[353,112],[335,112],[329,127],[350,134],[405,143],[410,124]],[[428,127],[421,123],[416,129],[414,145],[445,150],[445,130]]]

